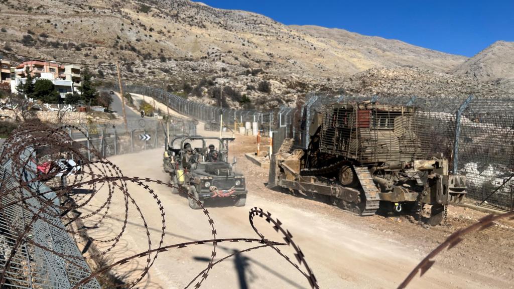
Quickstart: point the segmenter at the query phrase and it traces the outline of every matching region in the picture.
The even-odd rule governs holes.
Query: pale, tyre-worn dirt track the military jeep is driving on
[[[245,137],[240,138],[245,139]],[[245,147],[244,141],[240,147]],[[127,176],[168,180],[169,176],[162,171],[161,153],[162,151],[157,149],[139,154],[116,156],[111,160]],[[282,192],[267,190],[263,184],[264,171],[252,167],[249,161],[241,157],[237,166],[245,169],[246,177],[249,179],[246,207],[232,207],[227,202],[206,202],[215,222],[217,238],[257,238],[248,223],[249,208],[256,206],[272,212],[292,233],[323,288],[394,288],[426,252],[426,248],[413,245],[413,243],[421,245],[423,241],[401,242],[406,238],[394,236],[395,233],[391,229],[394,230],[396,227],[395,221],[379,216],[360,218],[319,201],[305,200]],[[166,213],[164,245],[211,239],[210,227],[204,213],[190,209],[185,196],[172,195],[164,186],[152,186],[152,188],[159,196]],[[152,244],[156,245],[160,238],[161,219],[155,201],[140,186],[128,184],[128,190],[135,198],[136,204],[140,206],[150,228]],[[105,190],[101,190],[101,193],[96,196],[95,203],[98,206],[102,204],[106,195]],[[288,201],[291,202],[288,203]],[[114,233],[118,233],[124,219],[123,204],[122,195],[115,194],[102,227],[90,230],[94,237],[102,236],[108,239],[113,237]],[[86,210],[93,209],[89,207]],[[131,206],[128,212],[128,225],[120,244],[115,247],[114,252],[109,254],[112,260],[119,260],[148,249],[143,223],[137,210]],[[389,221],[386,221],[386,224],[377,224],[376,221],[380,220],[379,218]],[[388,223],[393,224],[392,228],[387,226]],[[269,239],[281,241],[281,236],[274,233],[266,222],[258,221],[257,225],[263,228],[263,232],[269,236]],[[423,230],[427,234],[434,231],[419,229],[414,224],[405,225],[412,231]],[[412,234],[414,238],[417,235],[417,232]],[[102,244],[99,246],[102,248]],[[254,244],[221,243],[216,257],[222,258],[235,249],[250,246]],[[290,249],[286,248],[285,252],[294,258]],[[210,245],[163,252],[151,268],[150,274],[144,282],[140,283],[140,287],[185,287],[205,268],[210,254]],[[139,261],[141,262],[139,267],[142,267],[142,261],[144,260]],[[117,272],[137,276],[139,273],[137,267],[137,264],[131,262],[118,268]],[[411,287],[509,288],[512,286],[508,278],[502,280],[500,277],[469,272],[452,264],[438,262],[423,278],[417,278]],[[212,269],[203,286],[207,288],[309,287],[305,278],[270,248],[252,251],[220,263]]]

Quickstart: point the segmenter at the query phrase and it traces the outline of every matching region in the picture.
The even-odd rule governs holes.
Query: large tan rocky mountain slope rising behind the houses
[[[189,0],[3,0],[0,15],[4,50],[56,61],[120,62],[125,83],[163,86],[211,104],[220,101],[223,88],[224,105],[232,107],[293,105],[308,92],[369,94],[374,90],[356,83],[359,77],[412,69],[433,77],[467,61],[396,40],[286,26]],[[114,68],[91,69],[100,80],[115,78]],[[412,91],[424,87],[416,86],[422,79],[412,81]],[[402,89],[387,93],[396,91]]]

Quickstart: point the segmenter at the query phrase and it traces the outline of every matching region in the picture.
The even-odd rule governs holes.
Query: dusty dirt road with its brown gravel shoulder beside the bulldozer
[[[199,134],[204,132],[198,125]],[[228,136],[228,135],[227,135]],[[233,207],[229,202],[206,202],[217,231],[217,238],[258,238],[248,222],[248,211],[260,207],[280,219],[283,226],[300,246],[322,288],[395,288],[410,270],[435,246],[456,229],[470,225],[484,213],[451,207],[449,226],[425,229],[410,216],[359,217],[344,212],[319,200],[292,196],[281,190],[267,189],[267,171],[251,164],[244,153],[252,152],[254,137],[236,135],[231,144],[231,156],[237,156],[236,168],[247,179],[248,198],[245,207]],[[169,180],[162,170],[162,149],[112,157],[126,176]],[[156,200],[141,186],[127,184],[136,206],[128,203],[127,225],[114,249],[108,252],[109,261],[136,255],[152,248],[160,241],[161,214]],[[211,239],[208,220],[201,210],[192,210],[185,195],[173,195],[165,186],[151,185],[161,202],[166,229],[163,245]],[[96,210],[107,200],[103,188],[95,196],[92,206],[84,213]],[[102,212],[105,212],[105,208]],[[100,249],[112,245],[112,239],[123,227],[124,197],[116,192],[106,218],[98,229],[88,230]],[[148,225],[150,237],[144,225]],[[258,219],[256,226],[265,236],[282,241],[270,225]],[[94,222],[89,221],[89,224]],[[502,222],[486,231],[476,232],[457,248],[445,252],[422,278],[410,288],[513,288],[514,241],[512,222]],[[259,244],[219,243],[216,260]],[[291,248],[283,251],[294,260]],[[150,272],[138,284],[140,288],[183,288],[205,269],[212,245],[203,244],[164,251],[159,254]],[[135,259],[116,267],[115,272],[134,280],[141,274],[145,258]],[[191,287],[194,287],[194,284]],[[307,280],[271,248],[263,248],[238,255],[212,268],[202,287],[205,288],[309,288]]]

